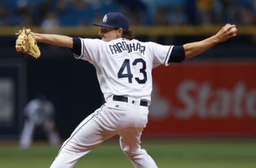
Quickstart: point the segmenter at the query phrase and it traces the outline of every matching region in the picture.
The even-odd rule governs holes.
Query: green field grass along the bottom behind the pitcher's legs
[[[142,148],[162,168],[255,168],[256,141],[236,142],[177,142],[145,141]],[[0,167],[49,167],[59,148],[48,144],[33,144],[22,150],[17,144],[0,143]],[[133,167],[122,153],[118,142],[106,142],[82,157],[75,166],[82,167]]]

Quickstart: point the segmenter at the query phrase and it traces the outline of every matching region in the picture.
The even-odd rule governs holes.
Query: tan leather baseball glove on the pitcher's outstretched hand
[[[41,55],[40,49],[37,46],[36,39],[31,35],[30,29],[25,27],[16,33],[18,38],[16,40],[16,51],[23,55],[29,55],[34,58],[38,58]]]

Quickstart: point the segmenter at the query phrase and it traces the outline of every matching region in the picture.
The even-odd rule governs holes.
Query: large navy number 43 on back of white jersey
[[[143,74],[143,79],[139,79],[138,77],[135,77],[134,79],[140,83],[146,83],[147,81],[147,72],[146,70],[146,62],[142,59],[142,58],[137,58],[132,62],[132,65],[135,66],[138,63],[142,64],[142,68],[140,69],[140,73]],[[124,73],[124,70],[126,69],[127,73]],[[132,78],[133,78],[133,74],[131,73],[131,67],[130,67],[130,60],[126,59],[124,60],[121,68],[119,69],[118,73],[118,78],[128,78],[129,83],[132,83]]]

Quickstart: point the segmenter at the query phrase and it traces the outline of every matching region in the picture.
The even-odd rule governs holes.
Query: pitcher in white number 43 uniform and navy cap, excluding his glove
[[[79,158],[115,135],[119,135],[120,147],[134,167],[157,167],[140,147],[141,133],[148,122],[152,69],[205,52],[236,36],[236,26],[226,24],[209,38],[175,46],[134,39],[121,13],[108,13],[101,23],[93,25],[100,27],[101,39],[32,33],[38,42],[68,47],[75,58],[93,64],[106,101],[63,142],[51,167],[73,167]]]

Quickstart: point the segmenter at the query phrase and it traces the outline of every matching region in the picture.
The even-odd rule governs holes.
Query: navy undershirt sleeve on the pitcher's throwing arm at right
[[[169,62],[182,62],[185,60],[185,51],[183,46],[174,46],[172,48],[172,53],[169,57]]]

